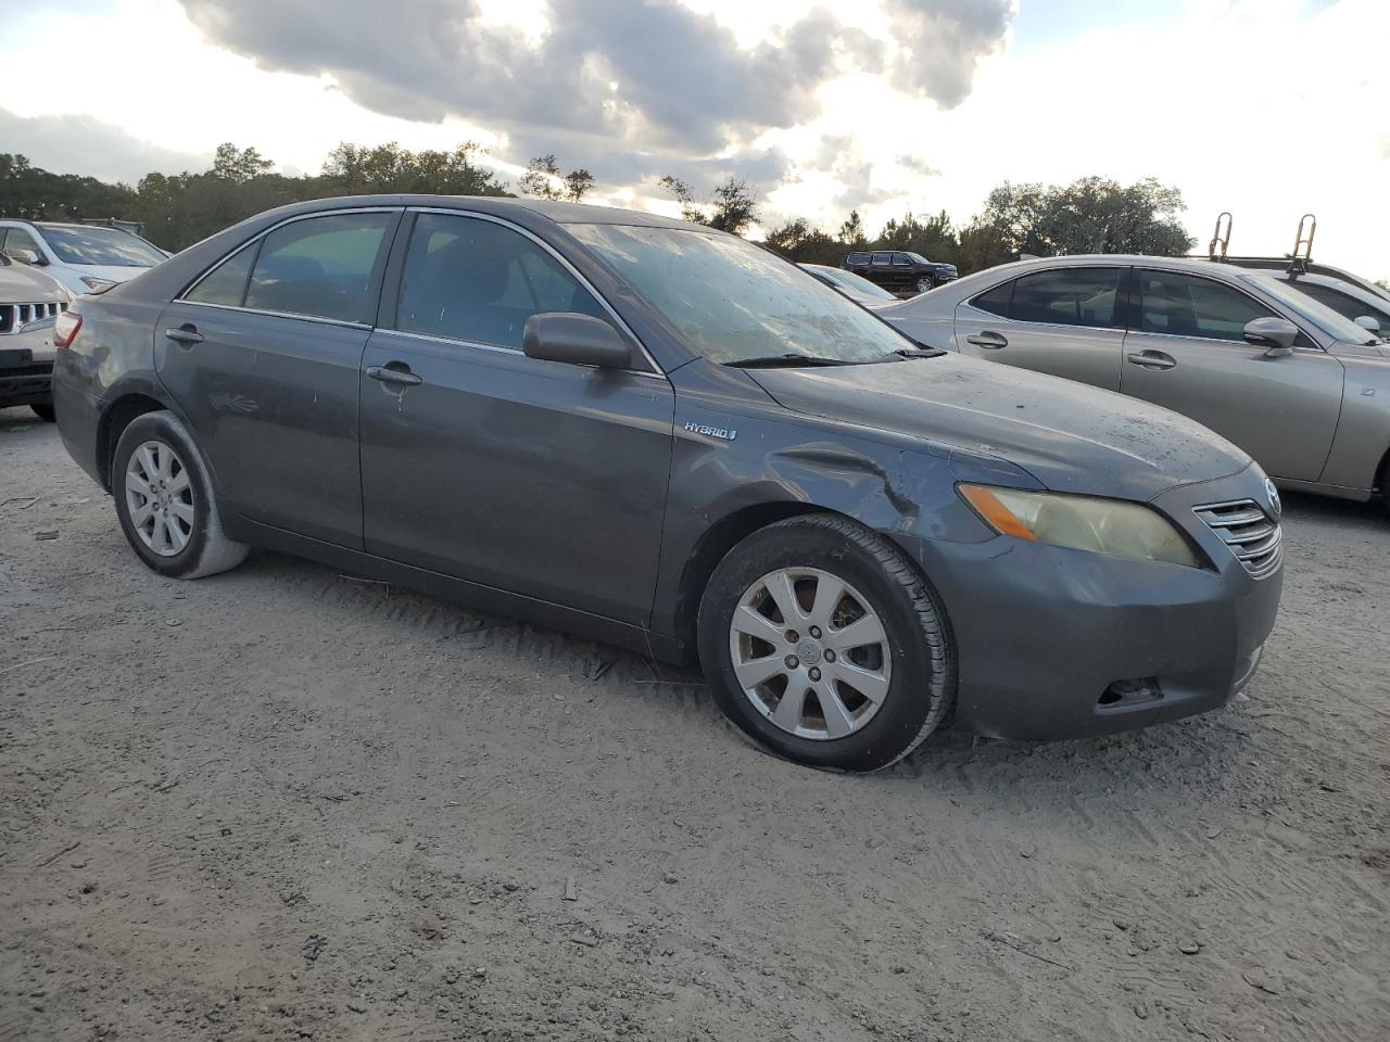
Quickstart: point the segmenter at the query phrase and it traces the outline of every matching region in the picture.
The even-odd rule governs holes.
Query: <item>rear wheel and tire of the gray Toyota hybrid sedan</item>
[[[152,481],[145,483],[142,474]],[[235,568],[250,553],[222,532],[207,461],[172,413],[145,413],[121,432],[111,495],[131,547],[160,575],[200,579]],[[152,503],[153,514],[138,513]]]

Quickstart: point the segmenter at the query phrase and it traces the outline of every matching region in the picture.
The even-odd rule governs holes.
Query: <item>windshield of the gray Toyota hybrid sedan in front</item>
[[[742,239],[613,224],[569,229],[710,361],[880,361],[912,347],[859,304]]]

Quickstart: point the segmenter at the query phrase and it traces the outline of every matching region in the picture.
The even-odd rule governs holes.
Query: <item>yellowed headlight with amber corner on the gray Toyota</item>
[[[965,502],[1001,535],[1127,561],[1201,567],[1183,534],[1156,510],[1140,503],[988,485],[960,485],[959,489]]]

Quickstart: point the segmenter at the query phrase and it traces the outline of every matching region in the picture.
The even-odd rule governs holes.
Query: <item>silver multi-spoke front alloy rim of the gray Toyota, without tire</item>
[[[780,568],[749,586],[728,647],[744,696],[798,738],[847,738],[888,697],[892,650],[883,620],[859,590],[820,568]]]

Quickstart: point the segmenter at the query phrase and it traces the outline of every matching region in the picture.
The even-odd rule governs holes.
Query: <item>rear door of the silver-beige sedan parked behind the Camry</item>
[[[1120,389],[1129,268],[1033,271],[956,306],[962,354]]]

